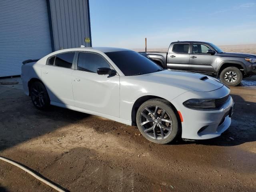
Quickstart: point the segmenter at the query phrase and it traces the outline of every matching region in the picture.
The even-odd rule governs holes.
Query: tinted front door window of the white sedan
[[[79,53],[78,70],[97,73],[97,69],[100,67],[110,68],[102,56],[95,53]]]

